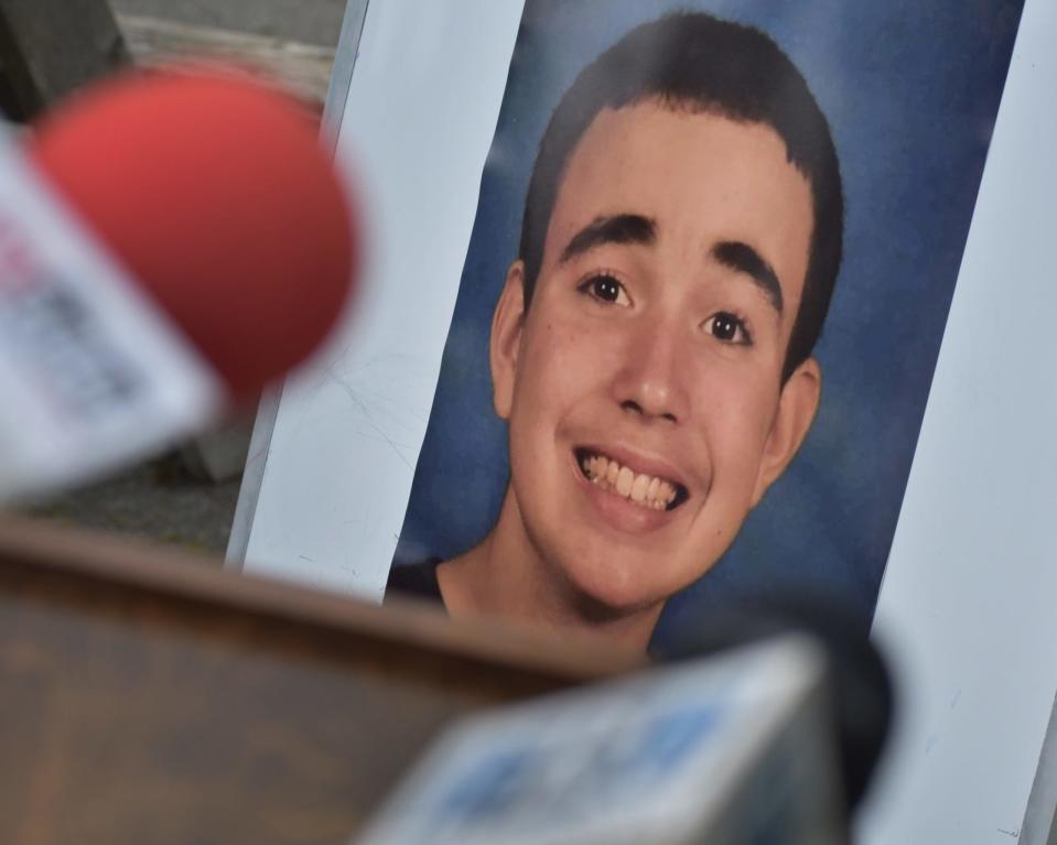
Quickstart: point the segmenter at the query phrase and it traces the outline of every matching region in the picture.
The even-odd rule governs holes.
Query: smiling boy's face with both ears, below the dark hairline
[[[528,312],[520,262],[508,274],[492,367],[526,538],[579,594],[659,607],[792,458],[820,388],[813,359],[780,382],[811,227],[766,126],[644,102],[573,151]]]

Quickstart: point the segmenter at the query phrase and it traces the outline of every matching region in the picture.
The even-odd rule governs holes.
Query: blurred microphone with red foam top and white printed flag
[[[108,80],[0,136],[0,501],[214,422],[303,361],[356,241],[311,113],[203,68]]]

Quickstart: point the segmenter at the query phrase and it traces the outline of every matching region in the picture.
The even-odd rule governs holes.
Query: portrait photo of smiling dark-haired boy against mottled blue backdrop
[[[824,6],[526,4],[387,597],[869,626],[1020,7]]]

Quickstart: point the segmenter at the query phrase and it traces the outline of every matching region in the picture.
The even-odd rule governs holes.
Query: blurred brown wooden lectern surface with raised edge
[[[0,842],[344,843],[452,718],[639,660],[0,520]]]

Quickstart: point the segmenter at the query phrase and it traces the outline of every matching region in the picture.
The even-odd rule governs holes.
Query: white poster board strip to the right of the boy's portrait
[[[1057,691],[1055,32],[1027,2],[885,570],[904,719],[867,843],[1017,841]]]

